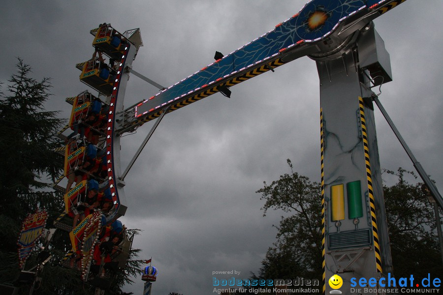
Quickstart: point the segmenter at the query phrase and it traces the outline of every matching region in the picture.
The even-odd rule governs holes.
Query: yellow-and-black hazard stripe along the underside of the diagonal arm
[[[267,72],[267,71],[269,71],[271,69],[274,69],[274,68],[276,68],[276,67],[278,67],[278,66],[280,66],[280,65],[282,65],[284,63],[285,62],[283,62],[281,59],[276,59],[276,60],[273,60],[273,61],[271,61],[271,62],[269,62],[267,64],[263,64],[263,65],[261,65],[261,66],[259,66],[257,68],[252,69],[249,72],[246,72],[245,74],[243,74],[241,76],[232,78],[232,79],[226,81],[225,83],[223,83],[221,85],[214,86],[211,89],[206,89],[206,90],[204,90],[204,91],[202,91],[202,92],[200,92],[198,94],[195,94],[194,96],[191,96],[191,97],[189,97],[189,98],[187,98],[185,100],[182,100],[182,101],[172,105],[169,108],[168,113],[172,112],[172,111],[175,111],[177,109],[180,109],[180,108],[182,108],[184,106],[187,106],[187,105],[189,105],[189,104],[191,104],[193,102],[196,102],[197,100],[200,100],[202,98],[205,98],[205,97],[207,97],[207,96],[209,96],[211,94],[217,93],[218,91],[220,91],[220,87],[221,86],[226,86],[226,87],[234,86],[234,85],[239,84],[239,83],[241,83],[243,81],[246,81],[246,80],[251,79],[251,78],[253,78],[255,76],[258,76],[258,75],[260,75],[262,73],[265,73],[265,72]],[[160,108],[158,108],[158,112],[156,112],[154,114],[151,114],[151,115],[149,115],[147,117],[141,118],[140,120],[134,120],[131,123],[131,125],[132,126],[134,126],[134,125],[141,125],[143,123],[149,122],[152,119],[158,118],[161,115],[161,112],[162,112],[162,110]]]

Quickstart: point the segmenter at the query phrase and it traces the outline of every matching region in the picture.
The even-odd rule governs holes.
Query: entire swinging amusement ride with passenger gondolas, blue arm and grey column
[[[351,277],[379,281],[392,273],[373,102],[381,105],[371,90],[392,77],[389,54],[372,20],[404,1],[309,1],[275,28],[227,55],[216,53],[214,62],[167,88],[132,69],[143,45],[139,29],[119,33],[102,24],[91,30],[93,59],[76,67],[80,81],[98,95],[86,90],[66,99],[72,112],[60,132],[66,146],[58,149],[65,157],[64,174],[54,187],[65,194],[65,211],[55,226],[69,232],[72,243],[64,265],[79,266],[85,281],[92,272],[99,278],[107,264],[125,267],[132,237],[118,221],[127,209],[121,202],[124,180],[164,115],[217,92],[230,96],[230,87],[308,56],[316,61],[320,79],[323,294],[332,290],[326,281],[334,274],[343,278],[342,290],[349,290]],[[130,73],[160,92],[125,109]],[[154,119],[124,169],[122,135]],[[66,137],[62,133],[68,128],[73,133]],[[414,166],[443,207],[416,160]],[[66,188],[58,184],[64,177]],[[155,267],[144,269],[147,281],[156,275]]]

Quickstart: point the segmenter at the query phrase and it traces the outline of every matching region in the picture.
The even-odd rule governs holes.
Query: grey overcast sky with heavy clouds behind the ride
[[[89,30],[102,22],[121,32],[140,28],[144,47],[133,68],[168,87],[213,62],[215,51],[227,54],[274,28],[305,1],[3,1],[0,81],[21,57],[34,78],[52,78],[54,95],[45,107],[67,118],[64,98],[88,89],[75,64],[91,58]],[[442,10],[441,0],[409,0],[375,21],[393,75],[380,101],[440,192]],[[290,172],[287,158],[294,171],[319,181],[315,62],[297,59],[231,90],[230,99],[218,93],[167,115],[126,177],[121,220],[143,230],[133,246],[159,269],[154,295],[212,294],[213,271],[235,269],[243,279],[257,272],[281,212],[263,217],[255,191]],[[157,92],[131,76],[125,106]],[[375,116],[381,167],[413,170],[377,109]],[[122,139],[123,167],[151,125]],[[124,290],[142,294],[143,282],[135,281]]]

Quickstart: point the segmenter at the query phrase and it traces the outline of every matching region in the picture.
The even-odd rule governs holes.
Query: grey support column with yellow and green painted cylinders
[[[324,275],[326,280],[340,275],[345,292],[352,277],[379,279],[392,272],[374,109],[370,100],[362,99],[373,92],[364,85],[368,81],[359,68],[359,54],[365,53],[350,45],[338,58],[316,58],[323,131]],[[356,203],[361,213],[352,208]],[[329,294],[327,281],[325,286]]]

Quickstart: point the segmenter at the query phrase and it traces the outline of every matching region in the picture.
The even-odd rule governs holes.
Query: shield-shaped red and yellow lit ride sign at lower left
[[[20,268],[23,267],[31,254],[35,241],[43,234],[47,219],[48,214],[45,210],[37,210],[33,214],[28,214],[23,221],[22,230],[17,240]]]

